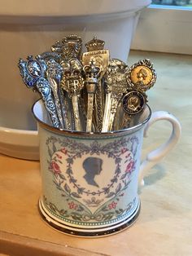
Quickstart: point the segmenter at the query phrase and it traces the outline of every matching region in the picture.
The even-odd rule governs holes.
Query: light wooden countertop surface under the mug
[[[57,232],[38,214],[38,161],[0,155],[0,254],[7,255],[192,255],[192,56],[131,51],[129,64],[148,58],[158,79],[148,92],[153,111],[166,110],[181,122],[177,146],[145,178],[142,210],[132,227],[113,236],[78,238]],[[159,121],[145,139],[142,157],[170,135]]]

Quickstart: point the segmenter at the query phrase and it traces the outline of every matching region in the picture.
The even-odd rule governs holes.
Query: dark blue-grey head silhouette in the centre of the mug
[[[95,175],[99,175],[102,171],[103,160],[98,157],[87,157],[83,161],[83,168],[85,175],[83,178],[85,181],[92,186],[98,187],[98,183],[94,181]]]

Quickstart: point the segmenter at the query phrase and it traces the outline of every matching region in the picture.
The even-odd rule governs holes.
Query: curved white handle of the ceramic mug
[[[155,166],[168,154],[168,152],[176,145],[181,135],[181,124],[176,117],[165,111],[156,111],[155,113],[151,114],[151,118],[144,128],[144,137],[147,137],[147,131],[149,130],[150,126],[159,120],[166,120],[172,124],[172,134],[165,143],[159,146],[159,148],[149,152],[146,159],[142,161],[139,170],[139,183],[141,183],[141,185],[144,185],[143,177],[146,175],[147,170]]]

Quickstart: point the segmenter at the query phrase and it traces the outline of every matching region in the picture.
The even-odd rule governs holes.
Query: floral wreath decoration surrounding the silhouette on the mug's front
[[[131,147],[127,148],[128,144],[131,145]],[[99,143],[98,140],[94,140],[89,144],[77,143],[74,139],[59,139],[50,136],[46,140],[49,156],[47,162],[49,170],[53,174],[53,182],[55,183],[56,188],[61,192],[61,196],[65,197],[67,206],[65,206],[65,209],[59,210],[56,205],[48,201],[44,196],[43,200],[46,208],[56,216],[85,222],[101,222],[126,214],[133,208],[136,200],[134,199],[133,202],[129,203],[124,210],[118,208],[118,202],[120,201],[120,197],[124,196],[124,190],[129,187],[131,174],[136,167],[135,155],[137,152],[137,144],[138,139],[136,136],[131,138],[123,137],[105,144]],[[130,156],[130,152],[132,152],[133,158]],[[99,189],[97,192],[91,192],[86,188],[82,188],[74,178],[72,172],[72,164],[76,158],[81,158],[87,154],[90,156],[106,155],[107,157],[112,158],[116,164],[116,170],[110,183],[104,188]],[[122,154],[126,154],[127,158],[127,160],[124,161],[124,163],[127,162],[127,165],[123,173],[122,170],[120,170],[122,161],[120,156]],[[65,171],[65,174],[62,173],[59,166],[59,164],[63,163],[63,156],[67,162],[67,170]],[[72,185],[72,188],[75,188],[76,192],[72,191],[67,181],[71,183],[70,186]],[[111,187],[115,184],[116,189],[111,191]],[[87,196],[89,195],[90,198],[85,199],[83,194]],[[99,196],[102,194],[107,198],[107,202],[104,204],[103,199],[99,199]],[[96,208],[94,213],[89,210],[89,207]]]

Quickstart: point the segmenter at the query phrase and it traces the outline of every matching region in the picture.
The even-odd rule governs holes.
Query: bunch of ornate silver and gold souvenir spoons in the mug
[[[132,126],[155,84],[150,60],[128,67],[112,59],[97,38],[85,44],[69,35],[44,52],[19,60],[24,84],[41,95],[52,125],[65,130],[107,132]]]

